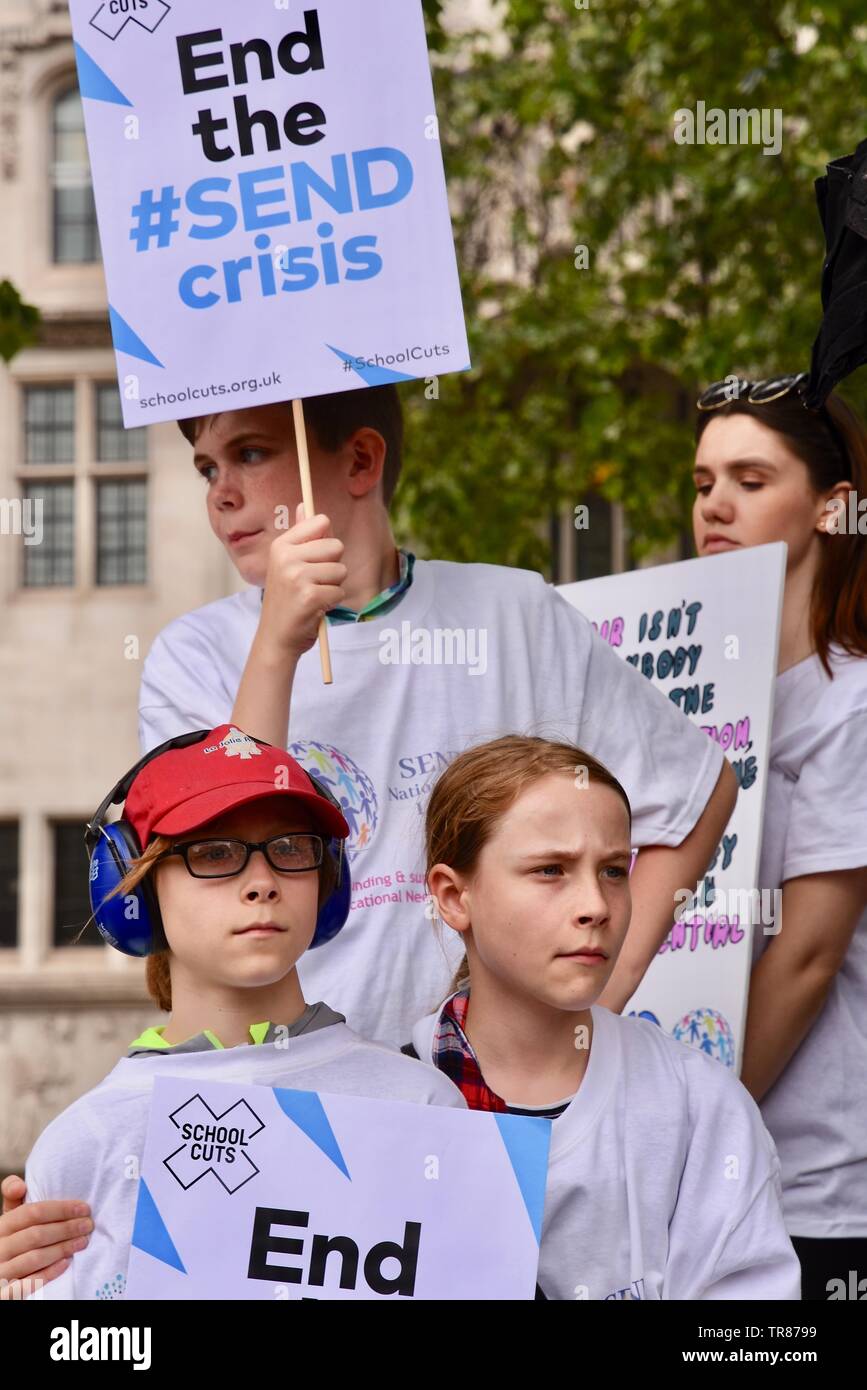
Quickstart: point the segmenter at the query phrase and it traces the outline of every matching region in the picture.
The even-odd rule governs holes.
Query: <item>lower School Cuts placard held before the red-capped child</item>
[[[154,1081],[128,1298],[532,1298],[550,1120]]]

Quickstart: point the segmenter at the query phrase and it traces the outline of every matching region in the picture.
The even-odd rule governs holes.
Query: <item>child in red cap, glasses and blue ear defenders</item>
[[[124,1294],[154,1076],[464,1105],[434,1068],[364,1041],[327,1004],[304,999],[297,960],[321,933],[340,873],[331,847],[339,851],[349,827],[292,758],[221,726],[135,770],[124,820],[108,826],[101,813],[118,799],[89,827],[92,877],[99,883],[100,841],[111,842],[110,859],[124,837],[133,853],[124,863],[121,852],[111,897],[93,894],[94,916],[119,949],[147,955],[149,990],[171,1016],[57,1116],[29,1156],[32,1202],[75,1193],[93,1213],[86,1248],[43,1290],[58,1300]]]

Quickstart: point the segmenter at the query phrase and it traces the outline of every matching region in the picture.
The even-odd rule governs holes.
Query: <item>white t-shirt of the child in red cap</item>
[[[206,1052],[122,1058],[86,1095],[51,1120],[26,1163],[28,1201],[89,1202],[86,1250],[42,1290],[43,1298],[122,1298],[138,1197],[138,1173],[154,1076],[243,1086],[281,1086],[421,1105],[464,1106],[456,1086],[431,1066],[365,1042],[345,1023],[315,1033]]]

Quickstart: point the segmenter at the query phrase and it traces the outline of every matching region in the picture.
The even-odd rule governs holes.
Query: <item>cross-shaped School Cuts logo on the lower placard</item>
[[[236,1101],[215,1115],[196,1094],[172,1111],[170,1120],[181,1131],[183,1144],[163,1163],[185,1191],[213,1173],[232,1194],[258,1173],[247,1150],[265,1126],[246,1101]]]

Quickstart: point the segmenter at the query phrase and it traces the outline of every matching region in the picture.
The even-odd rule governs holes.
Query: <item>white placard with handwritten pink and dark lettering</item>
[[[625,1012],[736,1070],[752,934],[781,924],[778,894],[759,892],[757,873],[785,556],[785,545],[760,545],[560,587],[735,769],[738,805],[713,863],[693,901],[684,885],[679,920]]]

